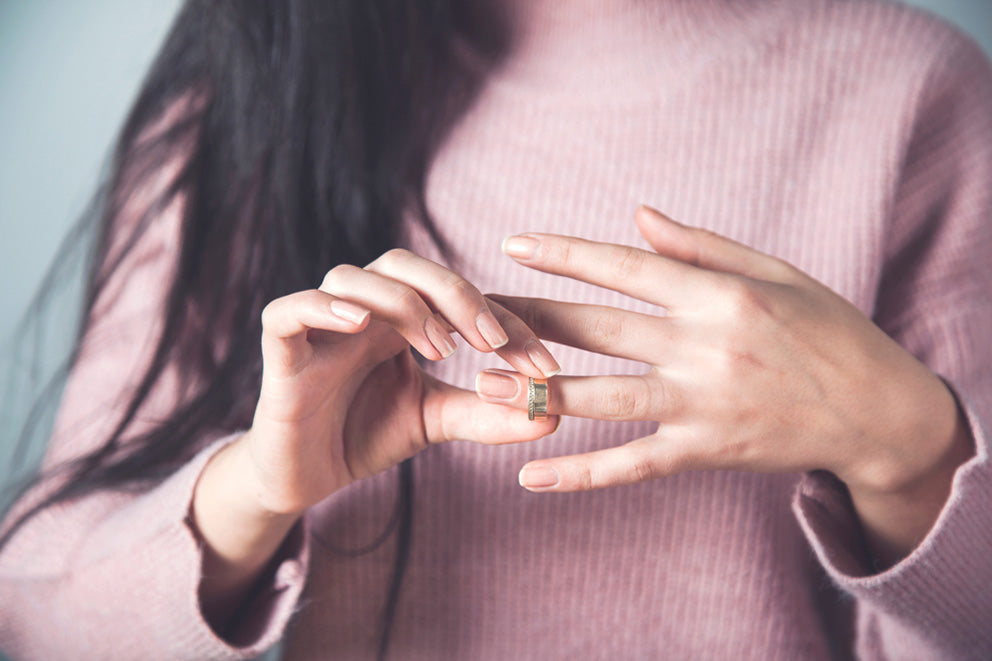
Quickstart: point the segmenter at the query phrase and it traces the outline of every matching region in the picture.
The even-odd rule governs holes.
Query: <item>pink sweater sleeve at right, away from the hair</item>
[[[907,119],[875,321],[947,383],[975,454],[927,537],[881,573],[835,479],[807,475],[793,503],[855,600],[865,659],[992,658],[992,67],[950,37]]]

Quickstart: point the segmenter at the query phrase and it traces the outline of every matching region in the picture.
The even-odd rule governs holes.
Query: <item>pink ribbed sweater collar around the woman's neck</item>
[[[473,0],[470,43],[519,89],[638,94],[745,49],[798,0]],[[604,87],[605,86],[605,87]]]

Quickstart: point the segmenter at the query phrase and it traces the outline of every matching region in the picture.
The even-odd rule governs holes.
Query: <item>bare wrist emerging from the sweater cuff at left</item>
[[[203,540],[200,603],[218,633],[224,632],[300,516],[268,512],[257,504],[247,479],[243,438],[211,459],[193,495],[193,522]]]

